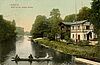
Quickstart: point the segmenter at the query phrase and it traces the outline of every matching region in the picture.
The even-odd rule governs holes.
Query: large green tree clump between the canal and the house
[[[58,34],[60,34],[58,25],[61,22],[59,9],[53,9],[50,12],[50,16],[51,17],[49,19],[42,15],[38,15],[36,17],[31,30],[31,35],[34,38],[48,37],[49,39],[55,40]]]

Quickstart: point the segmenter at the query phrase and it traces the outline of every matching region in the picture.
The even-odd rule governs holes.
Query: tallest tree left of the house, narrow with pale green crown
[[[51,30],[49,34],[53,40],[55,40],[58,36],[60,36],[59,23],[62,21],[59,9],[52,9],[50,16],[51,17],[49,18],[49,22]]]

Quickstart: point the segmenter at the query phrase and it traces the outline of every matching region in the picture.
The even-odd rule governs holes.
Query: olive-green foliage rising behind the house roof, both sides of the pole
[[[90,12],[91,12],[90,8],[88,8],[88,7],[82,7],[79,10],[78,14],[71,14],[71,15],[65,16],[64,21],[65,22],[73,22],[75,20],[78,20],[78,21],[88,20],[90,18],[90,15],[91,15]],[[77,16],[77,19],[75,19],[75,16]]]

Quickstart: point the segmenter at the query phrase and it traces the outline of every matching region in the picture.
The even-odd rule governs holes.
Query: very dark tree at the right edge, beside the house
[[[97,34],[100,45],[100,0],[92,0],[90,21],[94,25],[94,31]]]

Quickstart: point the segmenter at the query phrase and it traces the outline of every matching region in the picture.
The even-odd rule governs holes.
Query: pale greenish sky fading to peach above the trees
[[[77,13],[83,6],[91,7],[91,0],[76,0]],[[49,17],[50,11],[59,9],[62,19],[75,13],[75,0],[0,0],[0,15],[16,22],[16,26],[30,31],[37,15]]]

